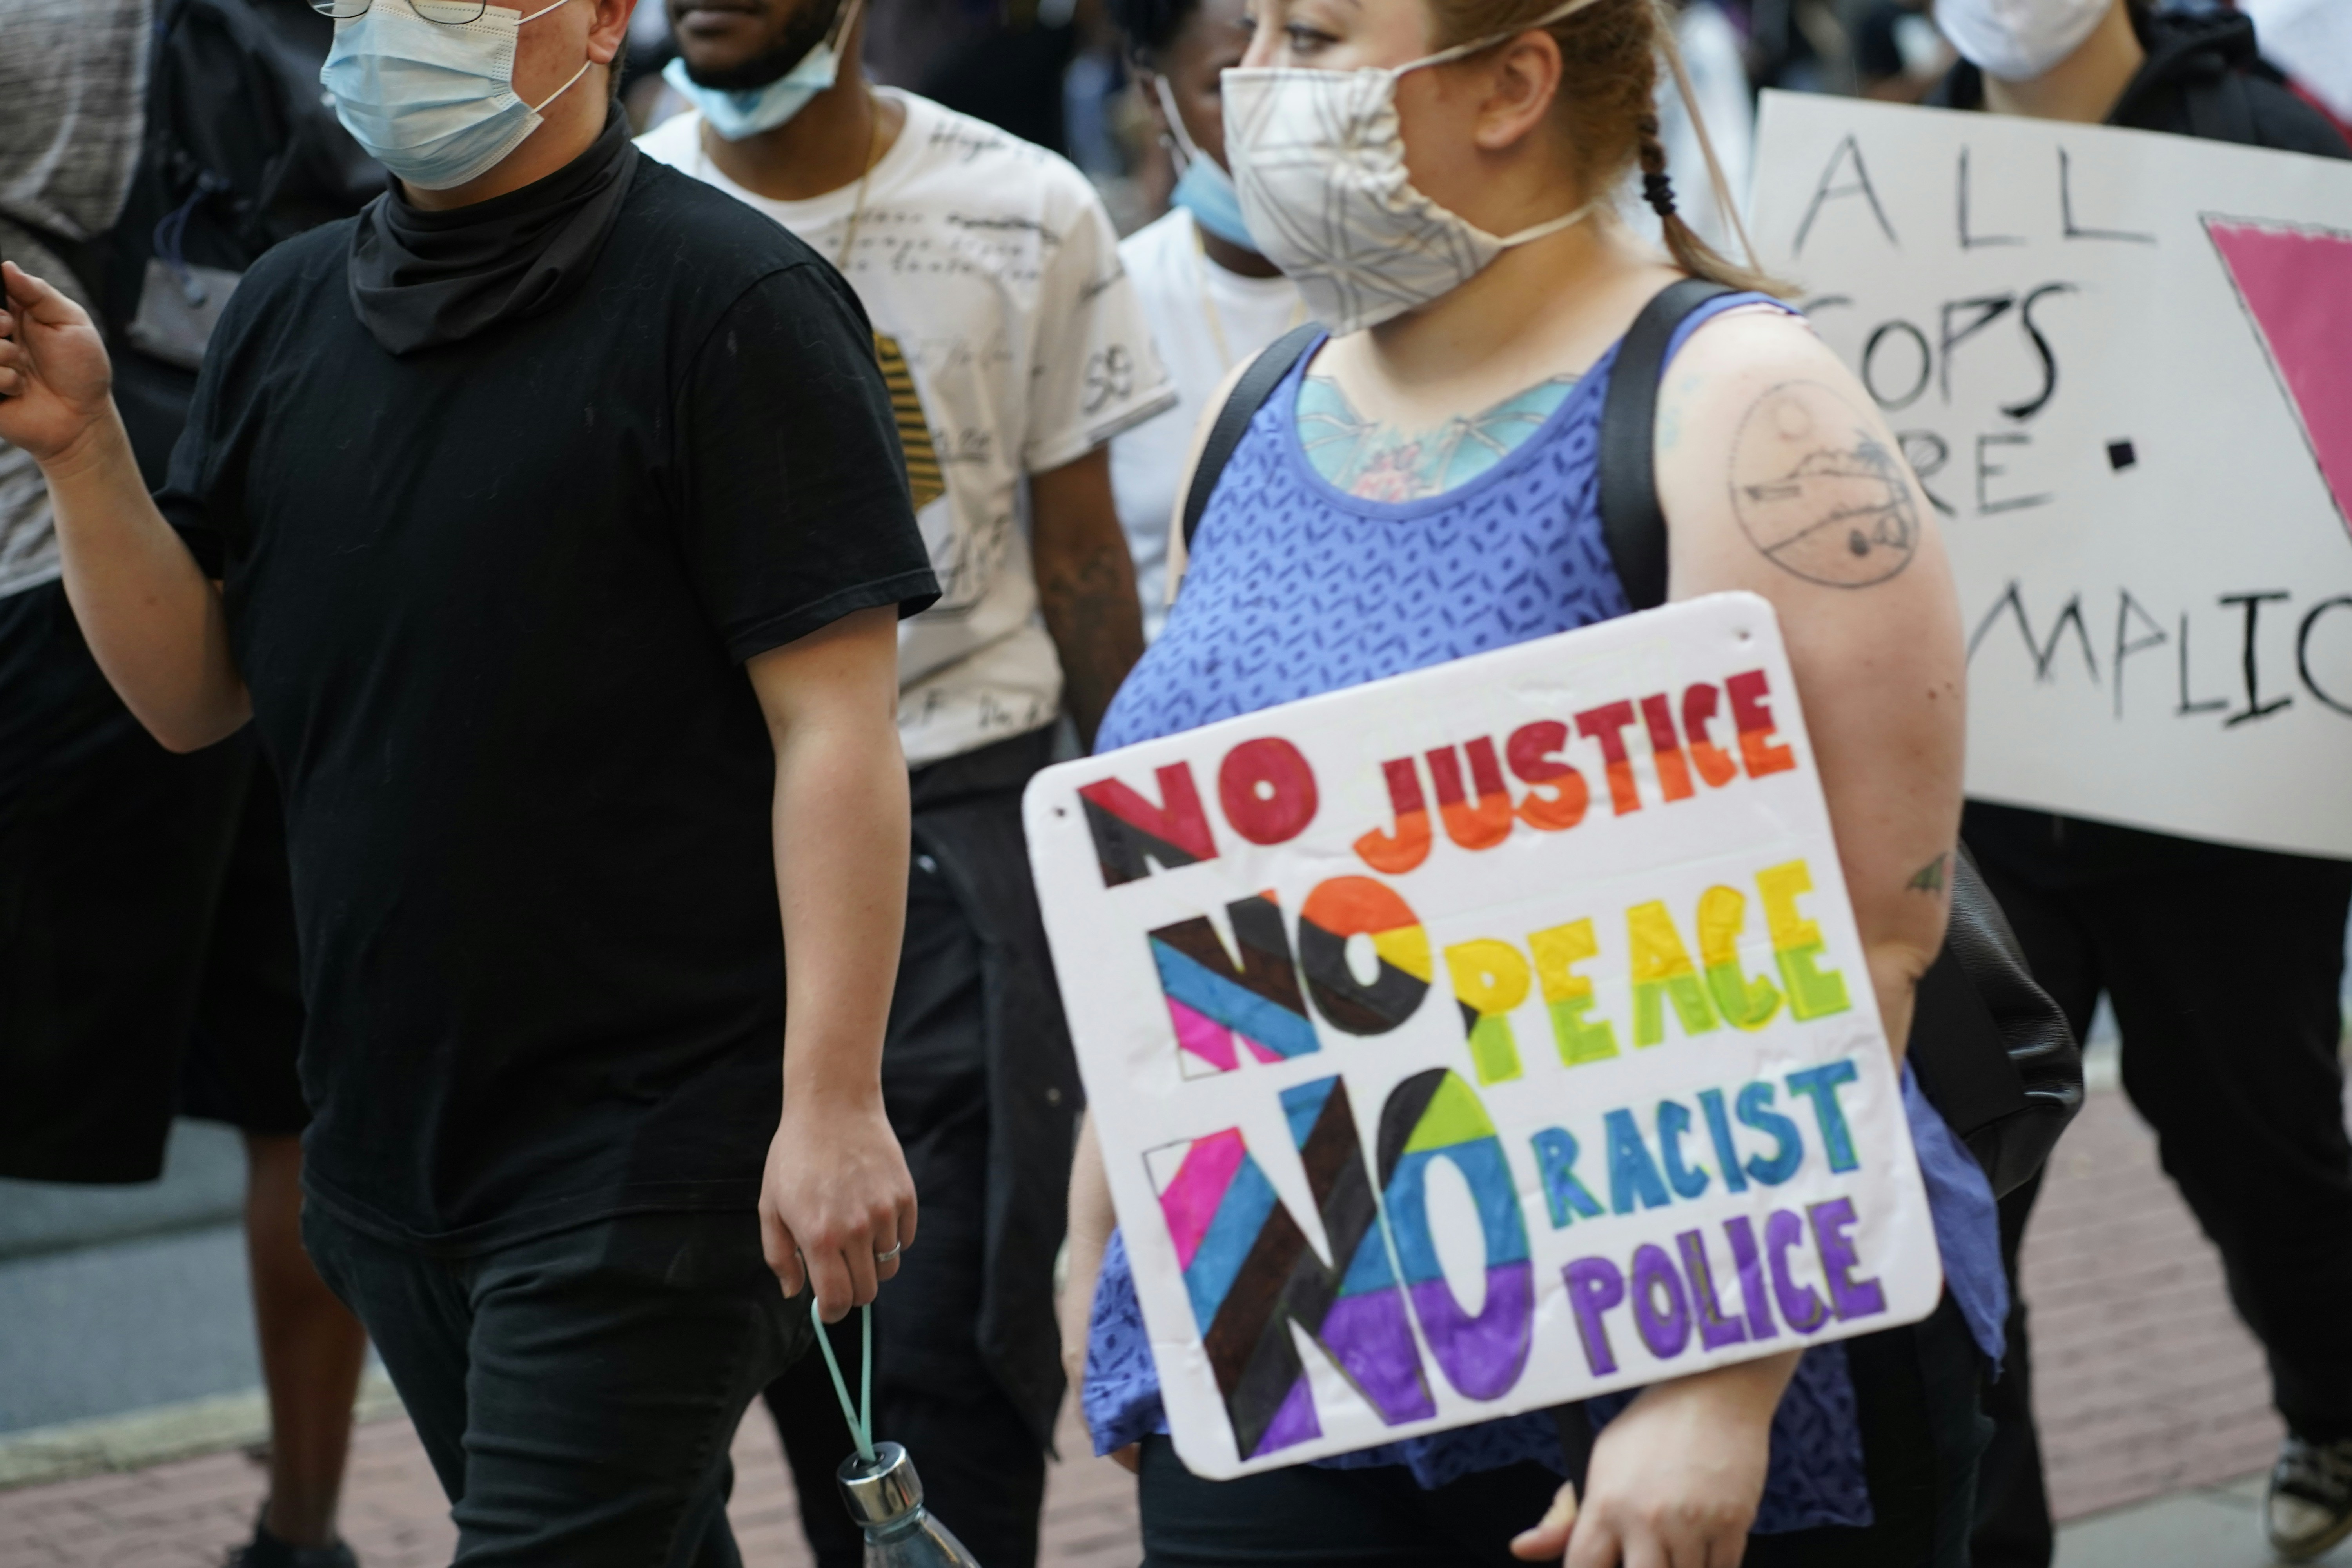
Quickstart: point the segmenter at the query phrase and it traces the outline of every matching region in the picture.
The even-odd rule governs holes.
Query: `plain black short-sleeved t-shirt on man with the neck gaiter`
[[[555,308],[395,360],[350,223],[247,273],[160,496],[287,795],[310,1192],[475,1248],[757,1199],[774,752],[741,663],[936,597],[866,313],[640,160]]]

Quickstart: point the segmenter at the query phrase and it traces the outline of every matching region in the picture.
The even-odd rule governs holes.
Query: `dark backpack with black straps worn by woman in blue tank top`
[[[1682,320],[1722,294],[1731,289],[1698,277],[1665,287],[1635,317],[1609,371],[1599,430],[1602,534],[1625,599],[1637,611],[1665,604],[1665,512],[1658,510],[1653,473],[1658,371]],[[1251,416],[1319,336],[1322,327],[1298,327],[1270,343],[1235,381],[1185,491],[1188,550]],[[1966,844],[1952,856],[1952,919],[1943,954],[1919,980],[1907,1060],[1919,1088],[1985,1168],[1994,1197],[2023,1187],[2082,1110],[2074,1030],[2049,992],[2034,985],[2009,917]]]

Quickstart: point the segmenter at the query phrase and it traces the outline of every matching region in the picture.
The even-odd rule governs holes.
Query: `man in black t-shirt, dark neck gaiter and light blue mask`
[[[877,1058],[936,583],[889,390],[830,268],[630,148],[628,0],[332,2],[402,183],[245,275],[155,501],[9,266],[0,440],[132,712],[252,717],[285,785],[306,1241],[459,1561],[731,1563],[786,1293],[837,1319],[915,1239]]]

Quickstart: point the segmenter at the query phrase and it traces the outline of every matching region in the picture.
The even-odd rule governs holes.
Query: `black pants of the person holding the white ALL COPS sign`
[[[2100,992],[2114,1001],[2124,1093],[2220,1248],[2279,1415],[2314,1441],[2352,1436],[2352,1140],[2338,1056],[2352,863],[1983,804],[1964,835],[2074,1030],[2089,1030]],[[2011,1281],[2032,1199],[2027,1187],[2004,1204]],[[1978,1568],[2051,1561],[2025,1328],[2018,1307]]]

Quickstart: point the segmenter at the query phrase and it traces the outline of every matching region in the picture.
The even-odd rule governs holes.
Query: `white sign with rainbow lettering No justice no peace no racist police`
[[[1068,762],[1025,818],[1195,1472],[1936,1305],[1762,599]]]

